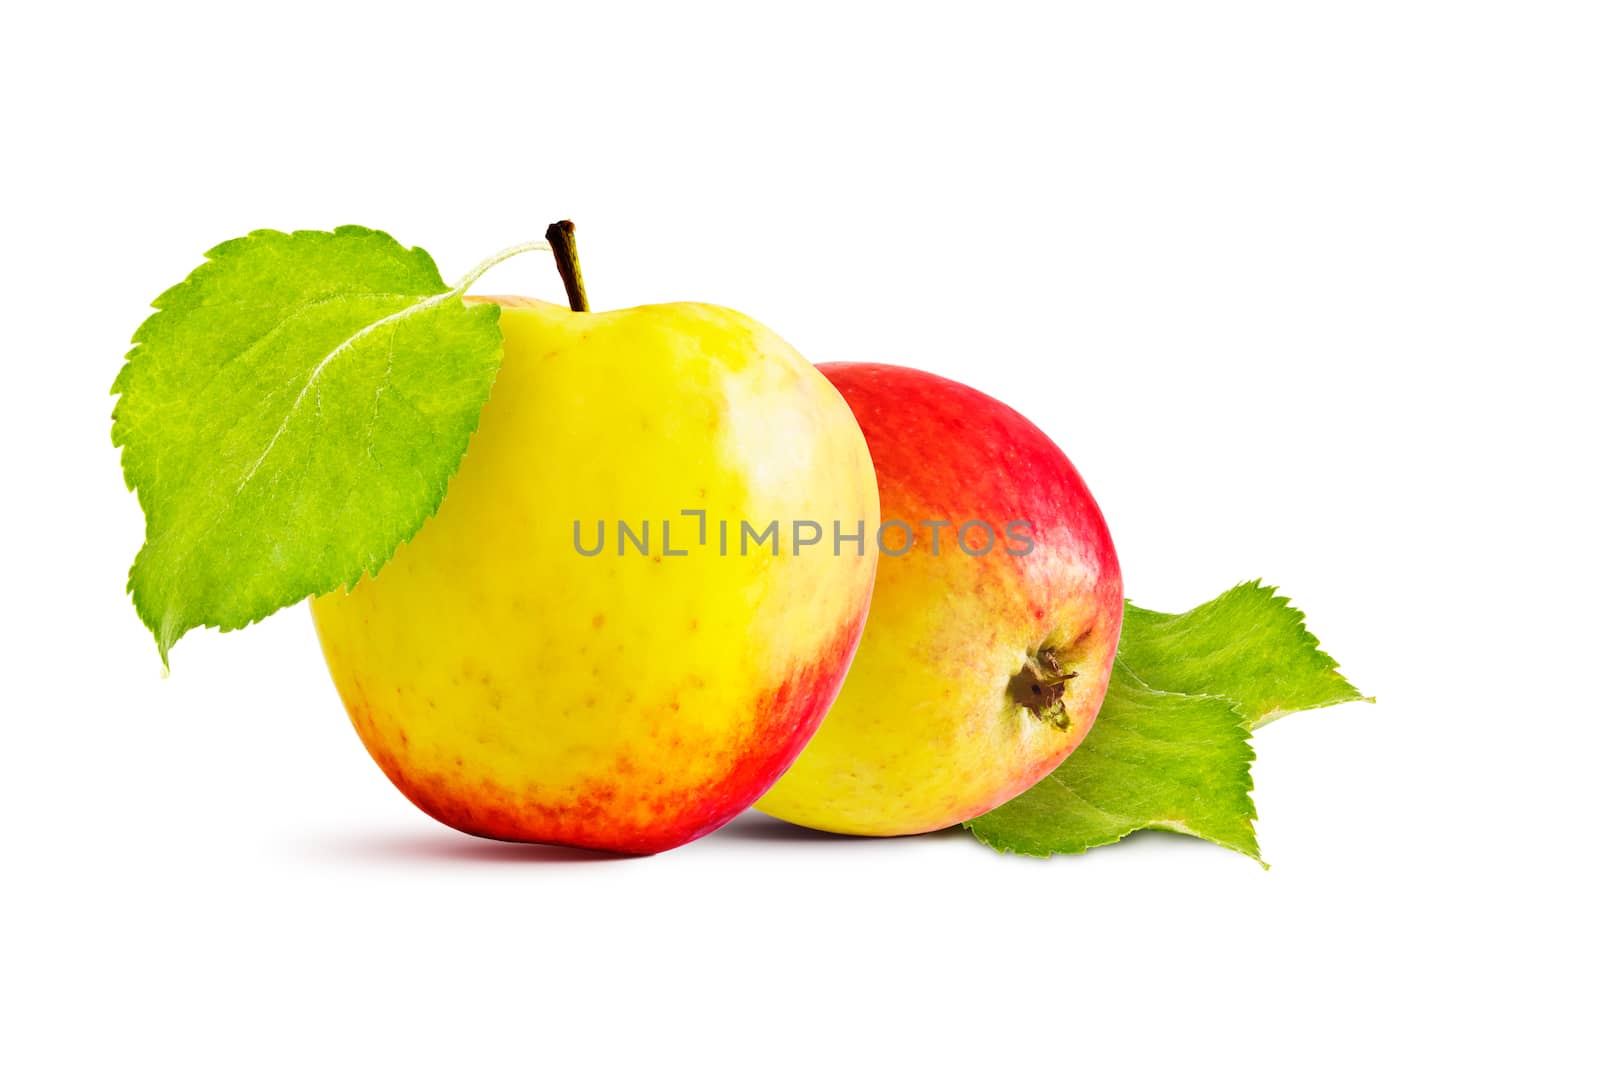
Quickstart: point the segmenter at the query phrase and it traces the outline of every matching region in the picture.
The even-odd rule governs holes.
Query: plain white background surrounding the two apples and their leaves
[[[8,13],[0,1058],[1594,1061],[1594,8],[1317,8]],[[163,680],[109,443],[149,301],[254,227],[456,277],[568,216],[600,307],[1011,402],[1138,602],[1282,584],[1379,703],[1261,733],[1272,869],[509,848],[384,781],[304,608]]]

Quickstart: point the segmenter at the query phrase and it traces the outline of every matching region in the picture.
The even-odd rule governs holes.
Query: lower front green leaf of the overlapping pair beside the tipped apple
[[[1157,691],[1118,658],[1078,749],[966,828],[997,852],[1018,855],[1080,853],[1138,829],[1166,829],[1261,861],[1253,757],[1232,701]]]

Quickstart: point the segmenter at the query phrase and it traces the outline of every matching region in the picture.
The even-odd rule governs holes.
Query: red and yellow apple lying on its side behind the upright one
[[[824,363],[878,475],[872,610],[822,728],[757,808],[813,829],[974,818],[1083,739],[1122,631],[1122,570],[1067,456],[982,392]]]

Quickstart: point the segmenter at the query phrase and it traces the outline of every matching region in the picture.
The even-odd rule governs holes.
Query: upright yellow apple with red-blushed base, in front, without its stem
[[[738,312],[491,299],[506,359],[438,514],[378,576],[312,602],[328,667],[434,818],[677,847],[765,792],[843,682],[877,563],[866,442],[822,375]],[[707,512],[704,544],[685,509]],[[650,522],[650,554],[618,554],[619,519]],[[797,554],[797,519],[829,536]],[[741,520],[779,520],[779,554],[741,555]],[[864,523],[859,554],[834,554],[834,520]],[[600,554],[574,522],[586,549],[606,525]]]

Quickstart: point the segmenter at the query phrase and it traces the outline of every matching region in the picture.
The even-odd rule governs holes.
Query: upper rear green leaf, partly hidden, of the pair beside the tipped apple
[[[1117,653],[1152,688],[1227,696],[1250,728],[1365,699],[1306,631],[1306,615],[1259,581],[1182,615],[1128,603]]]

